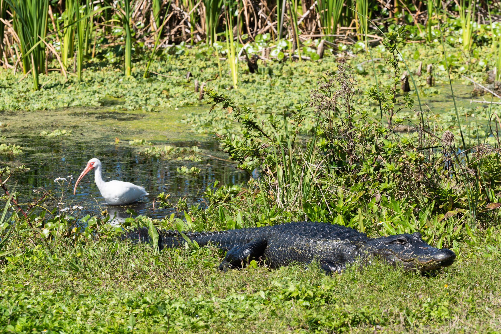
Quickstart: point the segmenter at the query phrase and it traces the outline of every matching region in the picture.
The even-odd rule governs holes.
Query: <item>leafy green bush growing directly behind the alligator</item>
[[[213,102],[211,110],[220,104],[227,116],[241,124],[238,135],[231,130],[219,135],[223,150],[238,161],[239,168],[259,175],[259,181],[251,180],[239,192],[243,199],[230,200],[229,193],[221,203],[230,200],[244,220],[257,224],[309,218],[377,234],[420,230],[429,242],[449,247],[471,234],[480,212],[484,217],[498,216],[497,211],[479,209],[497,202],[492,192],[495,182],[468,176],[480,174],[481,169],[488,169],[489,175],[501,173],[494,162],[485,167],[478,162],[496,149],[479,146],[477,161],[469,163],[468,153],[457,151],[453,133],[431,129],[419,112],[415,132],[396,131],[411,122],[401,114],[404,109],[412,111],[414,104],[399,88],[402,70],[397,46],[405,33],[400,26],[385,33],[383,45],[393,72],[389,83],[365,92],[379,105],[380,119],[356,103],[361,92],[348,65],[339,65],[335,74],[326,73],[312,91],[316,125],[309,138],[298,136],[311,115],[306,105],[270,115],[264,122],[249,107],[206,90]],[[206,196],[213,199],[212,193],[207,191]],[[224,221],[221,206],[210,202],[205,216]]]

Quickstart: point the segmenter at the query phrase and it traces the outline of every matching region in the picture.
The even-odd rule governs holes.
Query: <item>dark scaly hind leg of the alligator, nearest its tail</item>
[[[243,263],[263,256],[267,245],[267,240],[257,239],[242,246],[235,246],[226,252],[226,256],[219,264],[219,269],[226,271],[227,269],[241,268]]]

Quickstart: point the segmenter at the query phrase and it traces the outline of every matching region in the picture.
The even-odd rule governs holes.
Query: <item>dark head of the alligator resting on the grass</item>
[[[372,253],[405,271],[427,271],[449,266],[456,254],[447,248],[427,244],[421,233],[397,234],[374,239]]]

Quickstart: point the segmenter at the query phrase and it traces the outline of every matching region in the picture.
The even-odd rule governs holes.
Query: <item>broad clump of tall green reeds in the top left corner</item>
[[[13,27],[20,39],[23,71],[33,76],[33,89],[38,90],[39,73],[45,71],[45,44],[49,0],[7,0],[13,14]]]

